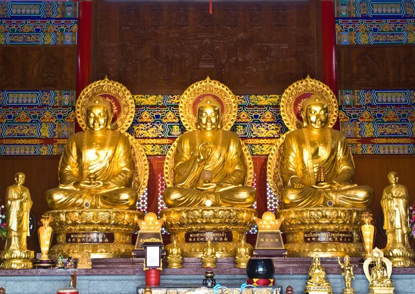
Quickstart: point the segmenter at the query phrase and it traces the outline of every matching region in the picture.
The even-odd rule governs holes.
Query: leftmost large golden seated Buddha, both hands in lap
[[[50,210],[135,209],[127,136],[110,128],[112,107],[97,96],[86,104],[86,130],[69,137],[59,164],[60,185],[46,192]]]

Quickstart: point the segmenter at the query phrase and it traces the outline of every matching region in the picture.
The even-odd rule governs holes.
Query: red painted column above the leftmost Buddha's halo
[[[92,38],[92,0],[80,0],[78,7],[77,32],[77,81],[76,93],[89,84],[91,73],[91,38]]]

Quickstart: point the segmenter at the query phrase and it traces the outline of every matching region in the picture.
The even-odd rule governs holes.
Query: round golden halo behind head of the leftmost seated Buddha
[[[86,130],[86,107],[100,96],[102,100],[111,105],[113,120],[111,129],[116,131],[127,131],[136,113],[136,105],[129,89],[119,82],[109,80],[98,80],[86,86],[80,93],[76,102],[75,114],[76,119],[82,130]]]

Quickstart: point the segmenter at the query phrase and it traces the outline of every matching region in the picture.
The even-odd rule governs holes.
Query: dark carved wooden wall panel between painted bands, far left
[[[0,46],[0,89],[76,88],[76,46]]]

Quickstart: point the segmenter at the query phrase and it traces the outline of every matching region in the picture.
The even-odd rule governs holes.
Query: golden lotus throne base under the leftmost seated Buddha
[[[56,234],[57,245],[50,255],[71,255],[78,259],[78,268],[91,268],[91,258],[131,257],[131,236],[138,231],[138,219],[144,213],[135,210],[50,210],[51,226]],[[113,240],[102,243],[85,243],[77,233],[113,233]],[[68,233],[74,233],[67,235]],[[112,234],[111,234],[112,235]],[[73,237],[68,240],[69,237]]]

